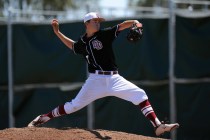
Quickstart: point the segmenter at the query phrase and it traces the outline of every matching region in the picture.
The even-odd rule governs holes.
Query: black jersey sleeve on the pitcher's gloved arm
[[[118,29],[119,29],[119,25],[115,25],[113,27],[104,29],[104,32],[106,32],[106,36],[110,40],[114,40],[115,38],[118,37],[118,35],[120,33],[120,31],[118,31]]]

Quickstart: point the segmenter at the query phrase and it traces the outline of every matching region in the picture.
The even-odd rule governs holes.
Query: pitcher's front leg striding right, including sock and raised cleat
[[[161,124],[143,89],[140,89],[139,87],[127,81],[121,76],[114,77],[112,79],[112,84],[113,87],[111,88],[111,95],[138,105],[144,116],[149,119],[154,126],[155,134],[157,136],[179,127],[178,123]]]

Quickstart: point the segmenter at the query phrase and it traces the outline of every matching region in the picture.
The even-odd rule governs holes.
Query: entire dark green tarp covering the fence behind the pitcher
[[[120,21],[109,21],[103,27]],[[123,31],[114,42],[117,64],[128,80],[168,80],[168,19],[140,19],[144,36],[137,44],[130,44]],[[210,77],[210,18],[176,18],[177,78]],[[83,23],[61,24],[60,30],[76,40],[84,33]],[[0,26],[0,84],[7,85],[7,33]],[[50,25],[13,25],[14,81],[16,85],[32,83],[83,82],[86,65],[81,56],[74,55],[54,35]],[[210,139],[208,135],[208,100],[210,83],[177,84],[177,119],[181,127],[178,139]],[[142,86],[160,120],[169,120],[169,87]],[[31,89],[16,92],[14,116],[16,127],[25,127],[39,114],[73,99],[78,90]],[[8,96],[0,90],[0,129],[8,127]],[[150,122],[137,106],[115,97],[94,102],[95,128],[125,131],[155,136]],[[87,127],[87,108],[71,115],[53,119],[46,127]],[[169,138],[169,134],[164,138]]]

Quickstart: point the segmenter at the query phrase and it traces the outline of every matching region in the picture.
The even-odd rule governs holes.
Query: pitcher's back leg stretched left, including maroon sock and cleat
[[[64,105],[56,107],[47,114],[39,115],[30,122],[28,126],[39,126],[52,118],[78,111],[92,101],[104,97],[104,86],[101,81],[102,80],[94,79],[94,77],[88,78],[75,99],[66,102]]]

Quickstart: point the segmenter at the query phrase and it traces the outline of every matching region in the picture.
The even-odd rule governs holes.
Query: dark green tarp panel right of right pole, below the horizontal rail
[[[209,140],[210,84],[177,85],[178,138]]]

